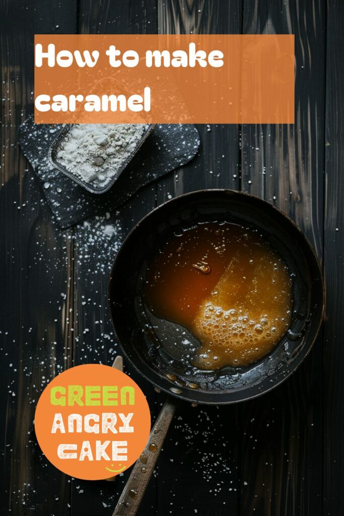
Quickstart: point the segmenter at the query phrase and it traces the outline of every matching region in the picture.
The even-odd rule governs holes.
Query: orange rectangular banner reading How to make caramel
[[[36,123],[293,123],[293,35],[36,35]]]

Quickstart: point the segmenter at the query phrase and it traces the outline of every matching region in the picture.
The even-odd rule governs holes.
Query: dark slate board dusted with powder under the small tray
[[[34,124],[34,117],[30,116],[18,131],[22,151],[61,228],[118,207],[142,186],[189,162],[200,145],[198,131],[192,124],[156,125],[114,185],[95,195],[52,164],[49,153],[61,127]]]

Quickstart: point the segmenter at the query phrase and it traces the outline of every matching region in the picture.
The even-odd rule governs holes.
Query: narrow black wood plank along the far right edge
[[[344,514],[344,4],[327,2],[323,515]]]

